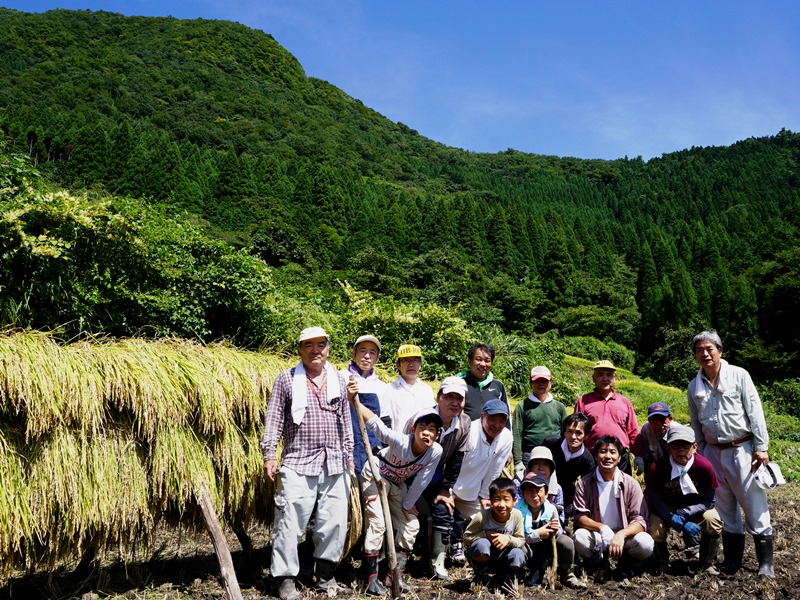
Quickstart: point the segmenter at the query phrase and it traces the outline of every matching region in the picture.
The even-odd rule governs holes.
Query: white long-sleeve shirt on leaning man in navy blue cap
[[[511,455],[514,436],[503,429],[492,443],[486,441],[481,420],[473,421],[469,432],[472,450],[464,455],[461,473],[453,486],[453,494],[467,502],[489,498],[489,484],[500,476]]]

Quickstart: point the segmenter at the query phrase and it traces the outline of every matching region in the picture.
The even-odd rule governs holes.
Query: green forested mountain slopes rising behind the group
[[[65,187],[197,215],[279,285],[346,280],[523,336],[610,340],[681,384],[692,332],[714,327],[757,374],[800,375],[798,134],[650,161],[476,154],[242,25],[0,9],[0,30],[9,149]]]

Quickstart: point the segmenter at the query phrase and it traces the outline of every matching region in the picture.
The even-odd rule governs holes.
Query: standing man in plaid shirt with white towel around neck
[[[316,507],[314,540],[316,589],[329,596],[346,592],[334,579],[347,537],[353,429],[347,382],[328,363],[328,334],[304,329],[298,338],[300,362],[275,380],[261,450],[264,475],[279,476],[272,529],[272,576],[281,600],[298,600],[297,546]],[[283,439],[280,470],[277,447]]]

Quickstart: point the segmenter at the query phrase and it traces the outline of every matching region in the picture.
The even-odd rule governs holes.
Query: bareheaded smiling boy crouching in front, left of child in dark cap
[[[475,515],[464,532],[467,559],[475,573],[473,582],[486,585],[492,573],[505,581],[520,578],[525,568],[522,513],[514,508],[517,488],[511,479],[498,477],[489,484],[490,508]]]

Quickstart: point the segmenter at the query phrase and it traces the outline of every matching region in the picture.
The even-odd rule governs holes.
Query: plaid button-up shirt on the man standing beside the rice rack
[[[315,476],[323,472],[329,475],[345,471],[346,463],[353,455],[353,428],[350,424],[350,409],[347,403],[347,382],[341,376],[336,382],[326,381],[319,399],[306,382],[308,407],[302,423],[292,420],[292,378],[294,368],[286,369],[275,380],[272,394],[264,416],[264,435],[261,451],[264,460],[275,460],[278,442],[283,437],[281,465],[289,467],[299,475]],[[339,385],[340,397],[328,402],[328,385]]]

